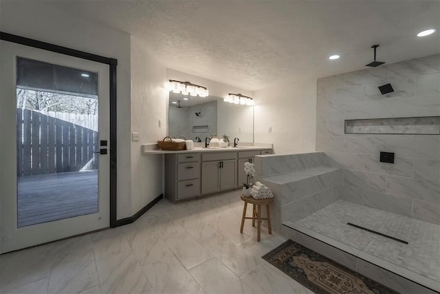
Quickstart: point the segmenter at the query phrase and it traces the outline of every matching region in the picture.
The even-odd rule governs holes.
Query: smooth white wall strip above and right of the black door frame
[[[118,59],[118,219],[132,215],[130,36],[54,10],[50,1],[0,1],[0,29]]]

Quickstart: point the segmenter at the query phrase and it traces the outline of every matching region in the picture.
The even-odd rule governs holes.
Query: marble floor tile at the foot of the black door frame
[[[93,233],[91,234],[91,241],[93,242],[96,260],[131,251],[129,242],[124,235],[124,227]]]

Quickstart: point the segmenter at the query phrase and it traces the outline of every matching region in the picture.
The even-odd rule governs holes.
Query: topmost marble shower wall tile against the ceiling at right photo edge
[[[388,65],[388,78],[415,78],[440,72],[440,55],[430,55]]]

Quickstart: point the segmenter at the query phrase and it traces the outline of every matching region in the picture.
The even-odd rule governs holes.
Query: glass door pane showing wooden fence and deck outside
[[[18,227],[98,212],[98,74],[17,57]]]

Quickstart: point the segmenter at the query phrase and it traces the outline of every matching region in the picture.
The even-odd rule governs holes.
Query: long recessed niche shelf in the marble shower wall
[[[440,116],[345,120],[344,133],[440,135]]]

